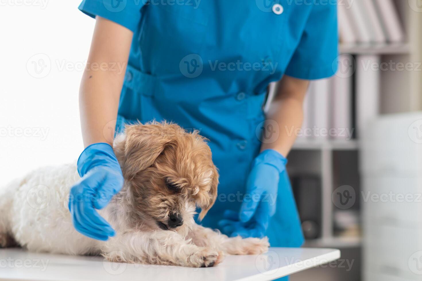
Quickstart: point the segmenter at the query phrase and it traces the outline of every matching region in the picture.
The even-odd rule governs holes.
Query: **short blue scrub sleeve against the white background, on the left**
[[[135,32],[141,20],[143,0],[83,0],[79,10],[95,18],[100,16]]]

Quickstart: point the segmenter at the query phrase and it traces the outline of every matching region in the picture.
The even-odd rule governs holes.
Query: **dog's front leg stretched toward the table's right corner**
[[[268,238],[228,237],[208,227],[194,225],[189,238],[201,247],[212,247],[227,254],[261,254],[268,250]]]

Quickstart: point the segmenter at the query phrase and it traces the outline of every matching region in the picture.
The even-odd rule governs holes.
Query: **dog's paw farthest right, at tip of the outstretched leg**
[[[227,245],[228,254],[261,254],[268,251],[270,243],[268,238],[244,238],[240,236],[232,238]]]

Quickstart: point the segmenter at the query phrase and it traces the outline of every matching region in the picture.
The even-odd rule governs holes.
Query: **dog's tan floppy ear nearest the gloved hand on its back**
[[[174,137],[157,124],[127,125],[122,161],[122,172],[127,180],[151,166]]]

